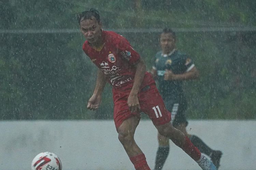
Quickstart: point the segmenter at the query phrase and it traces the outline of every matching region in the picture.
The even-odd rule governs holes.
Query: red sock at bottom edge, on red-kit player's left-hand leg
[[[130,160],[136,170],[150,170],[150,167],[147,165],[146,162],[146,157],[143,153],[130,157]]]

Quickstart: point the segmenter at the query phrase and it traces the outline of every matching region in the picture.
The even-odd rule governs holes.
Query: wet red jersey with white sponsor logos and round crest
[[[129,41],[122,35],[112,31],[102,31],[104,46],[100,51],[93,49],[88,41],[83,44],[83,50],[91,61],[108,76],[109,83],[114,88],[132,88],[140,55],[131,47]],[[146,72],[141,88],[155,83],[151,74]]]

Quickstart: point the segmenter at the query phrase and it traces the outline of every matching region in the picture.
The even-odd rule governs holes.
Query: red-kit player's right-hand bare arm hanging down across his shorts
[[[146,65],[142,61],[142,59],[137,64],[135,64],[134,67],[136,68],[136,72],[134,75],[134,82],[133,82],[130,95],[127,100],[127,104],[131,112],[136,112],[140,110],[138,93],[146,72]]]

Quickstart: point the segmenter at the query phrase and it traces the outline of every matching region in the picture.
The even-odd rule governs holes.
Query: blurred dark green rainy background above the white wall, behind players
[[[75,14],[91,7],[104,30],[125,36],[151,70],[163,28],[191,56],[200,80],[185,82],[188,119],[255,119],[256,1],[0,1],[0,119],[112,119],[107,85],[86,109],[96,67],[82,51]],[[143,117],[147,119],[147,117]]]

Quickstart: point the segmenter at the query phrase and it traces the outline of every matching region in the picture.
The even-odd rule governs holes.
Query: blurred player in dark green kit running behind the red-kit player
[[[158,90],[165,102],[166,108],[171,112],[172,125],[182,131],[200,152],[210,156],[216,168],[222,152],[212,150],[196,135],[190,135],[186,131],[188,124],[184,111],[187,102],[182,89],[182,81],[197,79],[199,74],[191,58],[176,50],[176,36],[171,29],[164,29],[160,35],[159,51],[155,56],[155,64],[151,73],[158,81]],[[169,154],[169,139],[158,134],[159,147],[156,155],[155,170],[161,170]]]

